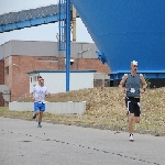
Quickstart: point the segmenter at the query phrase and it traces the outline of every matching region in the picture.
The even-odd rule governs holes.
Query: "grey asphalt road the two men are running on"
[[[165,136],[0,118],[0,165],[165,165]]]

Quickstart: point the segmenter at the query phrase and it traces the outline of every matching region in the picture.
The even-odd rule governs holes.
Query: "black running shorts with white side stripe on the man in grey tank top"
[[[129,113],[134,113],[134,117],[140,117],[140,98],[125,97],[125,106]]]

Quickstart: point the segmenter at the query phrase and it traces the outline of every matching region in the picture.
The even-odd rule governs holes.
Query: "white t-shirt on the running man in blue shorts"
[[[35,98],[35,102],[45,102],[45,95],[48,95],[46,87],[41,87],[38,85],[33,87],[33,97]]]

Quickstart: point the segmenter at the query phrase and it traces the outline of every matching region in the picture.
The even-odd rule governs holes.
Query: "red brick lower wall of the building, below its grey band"
[[[10,58],[10,59],[9,59]],[[14,66],[15,64],[16,66]],[[11,89],[11,101],[26,94],[30,89],[28,73],[33,70],[63,70],[65,59],[58,57],[10,56],[4,61],[4,67],[9,66],[9,74],[4,75],[4,84]],[[97,70],[110,73],[108,66],[99,59],[75,58],[70,66],[72,70]]]

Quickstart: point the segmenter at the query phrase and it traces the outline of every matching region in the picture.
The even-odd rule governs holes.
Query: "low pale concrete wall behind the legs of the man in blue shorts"
[[[46,102],[46,111],[53,114],[82,114],[86,111],[86,102]],[[33,102],[9,102],[11,111],[33,111]]]

